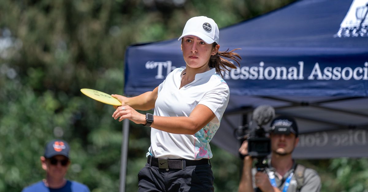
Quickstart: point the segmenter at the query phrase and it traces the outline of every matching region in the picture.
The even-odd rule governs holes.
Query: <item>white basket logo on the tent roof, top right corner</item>
[[[333,37],[368,37],[368,0],[354,0]]]

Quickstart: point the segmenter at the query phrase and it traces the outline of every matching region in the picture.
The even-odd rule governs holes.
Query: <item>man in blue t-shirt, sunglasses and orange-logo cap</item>
[[[89,192],[86,185],[65,179],[70,165],[69,149],[66,141],[48,142],[45,154],[40,157],[46,179],[24,188],[22,192]]]

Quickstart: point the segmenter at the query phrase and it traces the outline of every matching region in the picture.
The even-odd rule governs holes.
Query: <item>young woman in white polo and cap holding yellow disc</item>
[[[153,91],[137,97],[112,95],[122,105],[114,119],[151,128],[147,164],[139,172],[138,191],[213,191],[209,146],[229,102],[221,71],[236,68],[232,51],[219,52],[219,29],[213,19],[193,17],[181,40],[186,68],[176,68]],[[146,115],[135,110],[149,110]]]

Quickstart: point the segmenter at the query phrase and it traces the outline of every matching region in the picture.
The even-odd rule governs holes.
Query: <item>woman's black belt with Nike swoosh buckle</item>
[[[209,159],[199,159],[199,160],[161,159],[149,155],[147,158],[147,163],[150,166],[155,166],[158,167],[159,169],[185,169],[187,166],[209,164]]]

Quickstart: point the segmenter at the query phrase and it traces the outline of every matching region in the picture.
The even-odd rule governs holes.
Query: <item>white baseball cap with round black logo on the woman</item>
[[[185,24],[183,34],[178,40],[188,35],[197,36],[207,44],[212,44],[213,42],[219,44],[219,27],[213,19],[205,16],[190,18]]]

